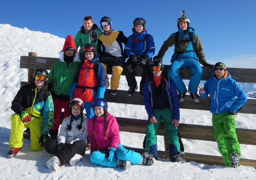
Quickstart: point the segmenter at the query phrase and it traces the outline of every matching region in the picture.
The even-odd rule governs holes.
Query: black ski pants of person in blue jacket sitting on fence
[[[144,65],[144,67],[141,67],[140,65],[137,65],[137,63],[129,61],[129,59],[127,60],[125,66],[125,78],[129,87],[136,87],[137,81],[135,79],[135,76],[141,76],[139,91],[141,92],[143,90],[144,83],[147,80],[147,76],[150,76],[151,74],[150,63],[151,60],[147,61],[147,64]]]

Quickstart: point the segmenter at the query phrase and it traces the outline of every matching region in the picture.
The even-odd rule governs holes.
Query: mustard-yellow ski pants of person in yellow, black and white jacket
[[[102,65],[104,66],[105,74],[106,74],[106,87],[108,87],[109,86],[109,77],[106,72],[107,65],[104,63],[102,63]],[[116,90],[119,87],[119,81],[120,81],[122,72],[123,72],[123,68],[121,66],[118,66],[118,65],[112,66],[112,76],[111,76],[111,82],[110,82],[111,90]]]

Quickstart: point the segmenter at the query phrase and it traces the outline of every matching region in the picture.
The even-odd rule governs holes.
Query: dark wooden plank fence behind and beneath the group
[[[32,80],[32,75],[35,69],[37,68],[46,68],[51,70],[51,66],[54,61],[58,58],[52,57],[37,57],[36,53],[29,53],[29,56],[20,56],[20,68],[29,69],[28,82]],[[164,71],[167,72],[170,65],[164,65]],[[202,67],[204,75],[201,80],[207,80],[210,76],[213,75],[213,70],[208,67]],[[237,82],[246,82],[246,83],[256,83],[256,69],[246,69],[246,68],[227,68],[232,78]],[[111,74],[111,70],[108,70],[108,74]],[[124,72],[122,73],[124,75]],[[191,73],[187,69],[183,69],[180,72],[180,76],[184,80],[189,80]],[[20,82],[21,86],[27,84],[28,82]],[[128,87],[127,87],[128,89]],[[184,102],[180,103],[180,108],[184,109],[196,109],[196,110],[209,110],[210,99],[209,98],[200,98],[198,103],[189,95],[186,95]],[[104,98],[108,102],[121,103],[121,104],[134,104],[134,105],[144,105],[143,98],[140,96],[139,92],[135,92],[132,96],[127,96],[127,90],[118,90],[117,96],[111,96],[110,89],[107,89],[104,95]],[[256,100],[248,99],[246,104],[244,104],[242,110],[239,113],[248,113],[256,114]],[[131,133],[145,133],[147,121],[145,119],[131,119],[125,117],[117,117],[119,123],[120,131],[131,132]],[[184,139],[197,139],[204,141],[215,141],[213,135],[212,126],[203,126],[203,125],[190,125],[182,124],[179,125],[179,131],[181,138]],[[241,144],[256,145],[256,130],[251,129],[236,129],[238,135],[238,141]],[[158,129],[158,135],[163,135],[165,138],[165,150],[158,151],[158,157],[167,159],[168,155],[168,142],[166,138],[166,131],[164,125],[161,124]],[[143,139],[141,139],[142,144]],[[128,149],[133,149],[139,153],[143,153],[145,149],[140,149],[138,147],[126,147]],[[195,153],[186,153],[186,161],[194,161],[199,163],[205,163],[209,165],[224,165],[223,158],[220,156],[213,155],[201,155]],[[247,160],[241,159],[240,165],[252,166],[256,168],[256,160]]]

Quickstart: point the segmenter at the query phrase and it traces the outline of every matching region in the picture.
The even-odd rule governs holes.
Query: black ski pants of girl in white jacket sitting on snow
[[[74,141],[72,144],[65,143],[65,147],[60,150],[56,149],[56,146],[57,141],[55,139],[47,139],[45,141],[45,150],[47,153],[56,155],[59,159],[60,165],[69,162],[69,160],[76,154],[84,155],[86,149],[86,144],[82,140]]]

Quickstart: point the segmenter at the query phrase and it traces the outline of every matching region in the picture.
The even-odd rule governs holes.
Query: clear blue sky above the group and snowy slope
[[[143,17],[157,54],[162,43],[177,31],[180,11],[186,10],[209,63],[223,61],[227,67],[256,68],[255,7],[254,0],[2,0],[0,23],[65,38],[76,35],[84,16],[92,16],[96,25],[100,18],[109,16],[113,29],[128,37],[133,20]],[[170,47],[166,52],[164,64],[170,64],[173,50]]]

